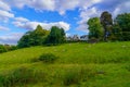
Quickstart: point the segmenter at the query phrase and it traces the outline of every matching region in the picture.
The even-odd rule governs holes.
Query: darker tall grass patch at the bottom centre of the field
[[[63,84],[65,86],[80,85],[81,82],[87,82],[88,79],[95,76],[95,71],[89,67],[70,67],[63,74]]]

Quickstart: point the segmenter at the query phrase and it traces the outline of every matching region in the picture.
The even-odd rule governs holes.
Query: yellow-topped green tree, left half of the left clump
[[[34,32],[27,32],[18,41],[17,47],[40,46],[44,42],[49,30],[43,29],[40,25]]]

